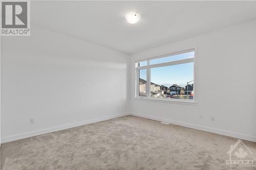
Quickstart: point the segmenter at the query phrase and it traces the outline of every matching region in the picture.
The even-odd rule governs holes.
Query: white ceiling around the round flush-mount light
[[[126,22],[129,12],[141,20]],[[254,1],[31,2],[31,25],[129,54],[251,19]]]

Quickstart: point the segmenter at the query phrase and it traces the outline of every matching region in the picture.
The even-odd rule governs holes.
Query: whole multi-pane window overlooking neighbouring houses
[[[137,98],[194,101],[195,50],[136,62]]]

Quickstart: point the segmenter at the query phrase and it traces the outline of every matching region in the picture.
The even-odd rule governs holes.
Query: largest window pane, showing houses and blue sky
[[[151,68],[151,97],[193,100],[193,79],[194,62]]]

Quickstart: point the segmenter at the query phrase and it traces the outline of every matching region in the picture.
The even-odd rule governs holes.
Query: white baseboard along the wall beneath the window
[[[202,130],[202,131],[206,131],[206,132],[211,132],[211,133],[216,133],[216,134],[220,134],[220,135],[225,135],[225,136],[230,136],[230,137],[234,137],[234,138],[239,138],[239,139],[256,142],[256,136],[250,136],[250,135],[234,133],[234,132],[230,132],[230,131],[224,131],[224,130],[220,130],[220,129],[214,129],[214,128],[209,128],[209,127],[204,127],[204,126],[199,126],[199,125],[193,125],[193,124],[188,124],[188,123],[184,123],[184,122],[178,122],[175,120],[170,120],[170,119],[165,119],[165,118],[160,118],[160,117],[155,117],[155,116],[149,116],[149,115],[145,115],[145,114],[131,113],[131,115],[144,117],[144,118],[148,118],[148,119],[152,119],[152,120],[157,120],[160,122],[166,122],[166,123],[170,123],[170,124],[174,124],[174,125],[184,126],[187,128]]]

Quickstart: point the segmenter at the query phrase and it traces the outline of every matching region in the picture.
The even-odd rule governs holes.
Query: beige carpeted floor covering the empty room
[[[3,143],[1,168],[229,169],[226,153],[236,141],[129,115]],[[256,153],[256,143],[244,143]]]

